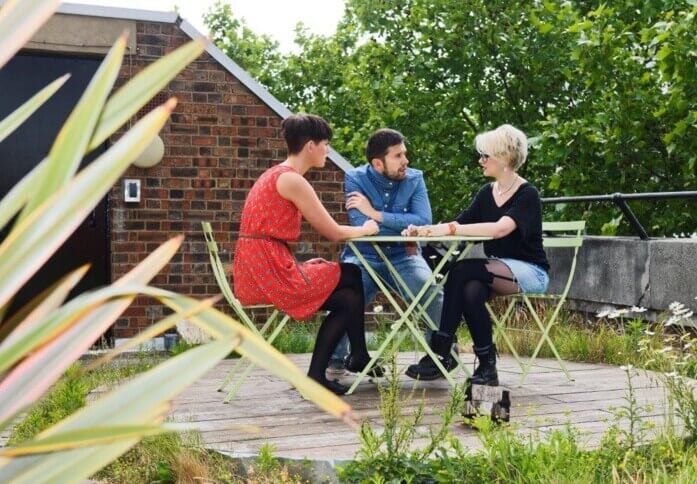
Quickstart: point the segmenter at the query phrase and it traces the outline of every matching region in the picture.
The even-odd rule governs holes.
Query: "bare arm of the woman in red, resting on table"
[[[312,185],[298,173],[282,173],[276,181],[276,190],[283,198],[298,207],[312,228],[333,242],[378,232],[377,224],[370,219],[359,227],[336,223],[320,202]]]

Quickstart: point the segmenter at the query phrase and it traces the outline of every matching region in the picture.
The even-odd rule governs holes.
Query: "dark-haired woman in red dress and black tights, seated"
[[[281,124],[288,159],[265,171],[244,204],[240,236],[235,248],[233,281],[242,304],[273,304],[303,320],[328,310],[317,333],[308,376],[336,394],[348,387],[327,380],[325,371],[332,350],[348,333],[351,354],[346,369],[363,370],[370,360],[365,343],[363,282],[353,264],[324,259],[299,263],[288,241],[300,236],[302,218],[331,241],[373,235],[378,226],[368,220],[361,227],[339,225],[324,208],[303,175],[321,168],[329,153],[332,130],[319,116],[293,115]],[[371,370],[379,376],[380,368]]]

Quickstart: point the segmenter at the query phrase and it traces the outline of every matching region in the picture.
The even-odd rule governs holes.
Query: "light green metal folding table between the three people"
[[[370,363],[363,369],[361,373],[356,377],[356,380],[353,382],[353,385],[349,388],[349,391],[347,392],[348,394],[353,393],[353,391],[356,389],[358,384],[365,378],[366,374],[370,369],[375,365],[375,362],[382,356],[382,354],[385,352],[387,349],[388,345],[392,342],[392,340],[398,335],[401,334],[402,330],[404,327],[411,333],[412,337],[418,342],[418,344],[423,348],[423,350],[428,353],[428,355],[433,358],[433,360],[436,362],[436,365],[440,369],[440,371],[443,373],[443,376],[446,378],[448,383],[451,386],[455,386],[455,380],[453,377],[450,375],[450,373],[443,367],[443,365],[440,363],[440,360],[436,357],[436,355],[433,353],[431,350],[431,347],[428,345],[428,342],[423,336],[423,332],[421,331],[421,325],[419,324],[420,321],[424,320],[427,324],[427,326],[431,329],[438,329],[435,325],[435,323],[431,320],[431,318],[428,316],[428,313],[426,312],[426,309],[428,305],[431,303],[431,300],[433,297],[435,297],[435,291],[434,293],[431,294],[431,296],[427,299],[425,298],[425,295],[428,292],[429,287],[431,284],[433,284],[434,281],[436,281],[439,276],[441,276],[441,271],[443,270],[443,267],[447,262],[450,260],[452,256],[456,256],[456,260],[460,260],[464,258],[467,253],[472,249],[475,243],[477,242],[482,242],[485,240],[491,240],[491,237],[468,237],[468,236],[461,236],[461,235],[446,235],[442,237],[426,237],[426,236],[410,236],[410,237],[402,237],[402,236],[391,236],[391,235],[375,235],[375,236],[369,236],[369,237],[358,237],[355,239],[350,239],[347,241],[347,244],[351,251],[354,253],[356,258],[363,264],[365,267],[366,271],[368,271],[368,274],[370,274],[370,277],[373,278],[373,281],[375,281],[375,284],[378,286],[380,291],[385,295],[389,303],[392,305],[394,308],[395,312],[399,316],[397,321],[392,324],[392,328],[390,332],[387,334],[387,337],[385,338],[385,341],[380,345],[378,348],[377,352],[374,354],[373,358],[370,360]],[[397,303],[395,300],[392,292],[390,291],[390,288],[387,287],[385,282],[380,278],[380,276],[375,272],[375,270],[368,264],[368,262],[365,260],[365,257],[363,257],[363,254],[360,253],[358,248],[356,247],[356,242],[369,242],[372,244],[373,248],[375,249],[375,252],[380,256],[380,258],[383,260],[385,263],[385,266],[387,267],[388,271],[392,275],[392,278],[395,280],[397,285],[399,287],[396,287],[395,289],[401,294],[407,296],[405,299],[405,302],[407,300],[410,300],[411,302],[407,304],[406,309],[402,309],[402,307]],[[441,259],[441,261],[436,265],[435,269],[433,270],[433,274],[431,274],[431,277],[429,277],[426,282],[424,282],[423,287],[419,290],[419,292],[414,295],[411,293],[409,290],[409,287],[407,284],[404,282],[404,279],[402,279],[401,275],[395,267],[392,265],[390,262],[390,259],[388,259],[385,256],[385,253],[380,249],[381,244],[388,244],[388,243],[405,243],[405,242],[441,242],[445,245],[447,245],[448,250],[445,253],[445,256]],[[464,248],[459,251],[458,253],[458,246],[460,245],[461,242],[465,243]],[[445,283],[445,277],[440,277],[440,281],[438,281],[437,284],[443,285]],[[401,338],[398,340],[401,341]],[[462,366],[462,365],[459,365]]]

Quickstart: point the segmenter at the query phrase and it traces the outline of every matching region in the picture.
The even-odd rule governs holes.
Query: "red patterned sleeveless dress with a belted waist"
[[[302,215],[276,190],[276,180],[288,171],[293,168],[285,165],[266,170],[247,195],[232,274],[242,304],[273,304],[303,320],[329,298],[341,269],[335,262],[299,263],[291,253],[286,241],[300,236]]]

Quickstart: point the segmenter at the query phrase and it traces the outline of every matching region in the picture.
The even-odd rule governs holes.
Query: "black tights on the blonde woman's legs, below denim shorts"
[[[488,347],[493,341],[486,301],[491,295],[517,292],[511,270],[499,260],[465,259],[455,263],[445,283],[440,331],[454,335],[464,316],[474,346]]]

